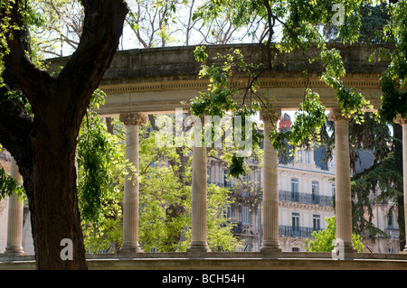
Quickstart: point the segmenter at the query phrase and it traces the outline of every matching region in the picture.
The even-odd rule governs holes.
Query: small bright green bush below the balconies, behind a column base
[[[312,232],[312,237],[314,240],[309,241],[306,239],[306,247],[308,252],[332,252],[334,249],[336,240],[335,216],[325,219],[327,221],[327,228]],[[352,234],[352,242],[357,252],[363,252],[364,245],[360,235]]]

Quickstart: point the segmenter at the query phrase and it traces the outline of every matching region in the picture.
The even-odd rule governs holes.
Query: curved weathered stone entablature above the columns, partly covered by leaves
[[[366,56],[374,54],[381,46],[338,43],[330,43],[328,46],[341,51],[346,69],[346,77],[342,79],[345,86],[355,87],[374,108],[380,107],[380,74],[389,62],[377,61],[378,56],[368,62]],[[108,98],[98,112],[109,116],[129,110],[153,114],[174,113],[175,108],[188,109],[189,100],[198,96],[199,91],[205,91],[209,83],[207,79],[199,79],[201,63],[194,60],[194,48],[186,46],[118,51],[99,86],[108,94]],[[207,65],[222,63],[222,60],[213,62],[211,57],[231,48],[240,49],[247,60],[254,63],[266,59],[265,52],[257,44],[209,45],[206,50],[209,54]],[[310,48],[308,55],[315,56],[318,52],[316,48]],[[50,60],[50,70],[63,66],[67,60]],[[298,108],[306,87],[319,93],[327,108],[336,107],[335,90],[327,87],[320,79],[320,60],[309,64],[301,51],[291,51],[279,54],[273,64],[273,70],[263,72],[260,77],[260,90],[276,99],[273,107]],[[308,76],[303,73],[306,69]],[[186,105],[182,106],[181,101],[185,101]]]

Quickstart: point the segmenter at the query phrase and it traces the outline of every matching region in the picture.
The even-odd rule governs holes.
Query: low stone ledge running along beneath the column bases
[[[90,270],[407,270],[407,255],[357,253],[334,260],[331,253],[256,252],[88,254]],[[0,269],[35,269],[33,255],[0,255]]]

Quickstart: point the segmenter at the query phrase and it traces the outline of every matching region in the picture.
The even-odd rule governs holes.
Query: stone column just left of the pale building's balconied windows
[[[274,114],[273,114],[274,113]],[[279,254],[279,190],[278,190],[278,164],[279,155],[271,144],[269,135],[273,125],[277,125],[281,111],[260,113],[264,123],[263,148],[263,239],[260,252]]]

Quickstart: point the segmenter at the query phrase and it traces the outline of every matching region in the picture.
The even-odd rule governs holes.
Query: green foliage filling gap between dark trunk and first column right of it
[[[88,121],[85,118],[83,122]],[[103,120],[91,113],[78,143],[78,195],[84,244],[89,252],[121,246],[126,163],[121,135],[109,134]],[[90,173],[97,174],[88,176]]]

